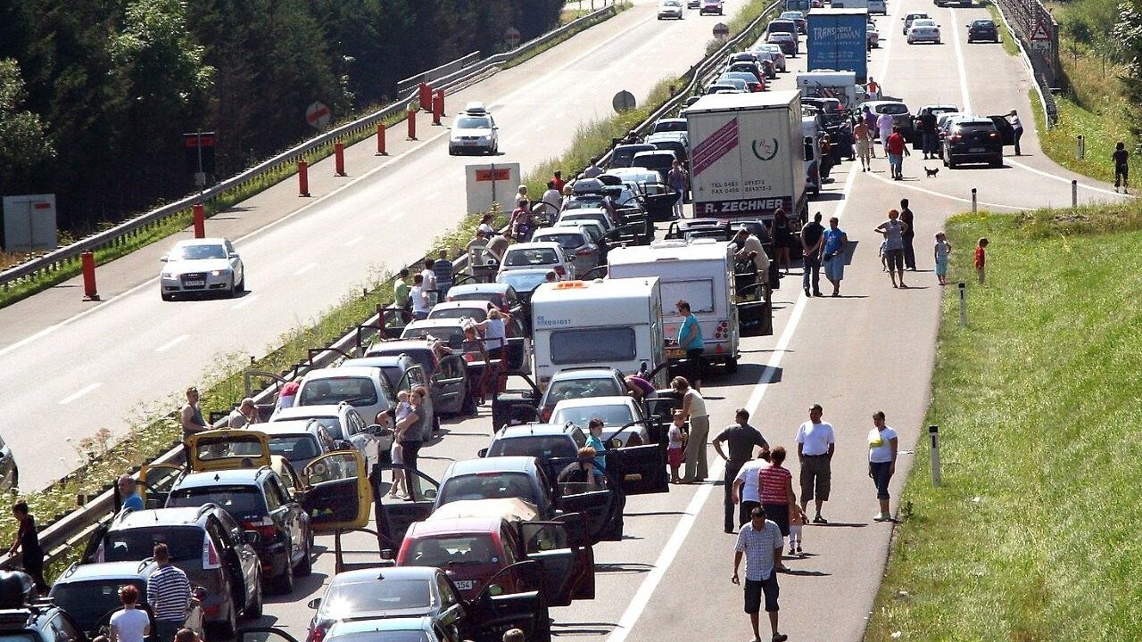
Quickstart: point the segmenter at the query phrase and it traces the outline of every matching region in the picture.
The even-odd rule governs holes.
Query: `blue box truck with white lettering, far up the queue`
[[[851,71],[863,85],[868,80],[868,9],[814,9],[807,21],[809,69]]]

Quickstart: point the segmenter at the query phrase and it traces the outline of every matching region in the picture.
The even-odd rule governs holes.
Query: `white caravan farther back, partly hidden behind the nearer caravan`
[[[702,359],[723,364],[726,371],[738,369],[738,345],[742,326],[773,327],[769,302],[764,298],[738,303],[734,296],[734,259],[737,248],[727,241],[694,239],[686,242],[656,241],[650,246],[612,249],[606,256],[609,279],[658,276],[662,290],[662,324],[666,336],[678,337],[683,318],[676,304],[685,300],[698,316],[705,339]],[[758,323],[761,321],[761,323]],[[771,330],[772,332],[772,330]],[[685,358],[678,347],[668,347],[667,359]]]

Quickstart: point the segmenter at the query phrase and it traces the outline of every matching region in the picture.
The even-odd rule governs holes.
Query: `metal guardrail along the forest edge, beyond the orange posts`
[[[445,91],[455,89],[456,87],[460,86],[467,80],[478,77],[492,70],[493,67],[504,64],[505,62],[508,62],[513,58],[517,58],[521,56],[528,56],[534,49],[542,47],[553,40],[562,38],[569,32],[574,32],[585,29],[612,15],[614,15],[614,0],[611,0],[610,5],[596,11],[593,11],[586,16],[571,21],[570,23],[558,29],[552,30],[547,33],[544,33],[542,35],[533,38],[524,43],[521,43],[518,47],[512,49],[510,51],[504,54],[497,54],[494,56],[489,56],[488,58],[481,61],[480,63],[469,64],[466,66],[461,65],[461,69],[452,70],[449,73],[444,73],[439,78],[432,78],[431,80],[432,83],[434,85],[433,88],[444,89]],[[466,56],[465,58],[460,58],[459,61],[453,61],[452,63],[442,65],[441,67],[436,67],[436,70],[447,71],[448,69],[450,69],[451,65],[460,63],[461,61],[465,61],[467,57],[468,56]],[[429,70],[429,72],[425,73],[428,74],[432,71],[435,70]],[[419,81],[417,83],[419,85]],[[389,105],[383,107],[377,112],[373,112],[353,122],[343,125],[320,136],[316,136],[304,143],[300,143],[273,157],[272,159],[263,161],[234,177],[227,178],[226,180],[223,180],[222,183],[218,183],[211,186],[210,188],[204,190],[200,194],[193,194],[186,196],[176,202],[166,204],[161,208],[151,210],[146,214],[139,215],[135,218],[120,223],[119,225],[110,227],[103,232],[91,234],[90,236],[87,236],[86,239],[77,241],[70,246],[51,250],[38,257],[31,258],[24,263],[9,267],[8,270],[0,272],[0,287],[8,289],[9,284],[14,281],[32,278],[38,273],[56,272],[57,270],[62,268],[66,263],[78,260],[79,255],[85,251],[94,251],[103,247],[121,244],[124,242],[127,236],[137,234],[145,227],[153,225],[164,218],[174,216],[179,211],[186,210],[195,203],[206,203],[212,201],[218,196],[220,196],[223,193],[241,187],[246,183],[255,180],[265,174],[279,169],[282,166],[292,166],[298,160],[301,160],[303,157],[305,157],[305,154],[312,152],[313,150],[329,145],[341,138],[348,138],[365,130],[372,131],[376,129],[377,123],[380,122],[381,120],[393,115],[397,115],[405,109],[408,109],[409,103],[415,98],[416,98],[416,88],[410,89],[404,95],[397,97],[395,102],[391,103]]]

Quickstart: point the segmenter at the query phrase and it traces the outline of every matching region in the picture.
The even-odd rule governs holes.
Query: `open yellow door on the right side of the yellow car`
[[[356,529],[369,523],[372,488],[357,450],[322,455],[301,472],[305,491],[299,503],[313,532]]]

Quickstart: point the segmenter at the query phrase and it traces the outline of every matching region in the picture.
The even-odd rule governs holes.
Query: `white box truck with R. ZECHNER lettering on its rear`
[[[686,107],[695,217],[807,214],[801,93],[709,94]]]

